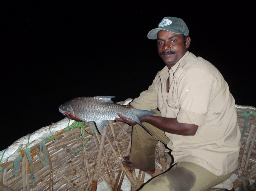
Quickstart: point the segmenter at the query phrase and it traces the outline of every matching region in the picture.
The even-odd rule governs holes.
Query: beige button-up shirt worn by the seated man
[[[218,176],[237,168],[241,134],[235,100],[221,73],[203,58],[187,52],[170,70],[165,66],[131,105],[158,107],[162,117],[198,125],[194,136],[166,132],[174,163],[194,162]]]

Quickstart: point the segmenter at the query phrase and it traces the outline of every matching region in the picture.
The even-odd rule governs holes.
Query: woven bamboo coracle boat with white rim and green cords
[[[231,177],[236,190],[256,190],[255,109],[236,108],[242,133],[239,166]],[[78,125],[67,118],[42,127],[1,151],[0,190],[137,190],[166,171],[171,157],[159,142],[153,175],[124,167],[131,132],[131,126],[109,121],[100,135],[93,122]]]

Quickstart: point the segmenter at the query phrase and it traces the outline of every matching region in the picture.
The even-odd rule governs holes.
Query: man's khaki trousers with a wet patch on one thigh
[[[160,115],[158,114],[155,115]],[[151,136],[140,125],[133,126],[132,147],[130,150],[130,161],[144,170],[155,169],[155,148],[158,141],[167,144],[169,139],[164,131],[151,124],[143,123],[144,126],[154,135]],[[207,169],[191,162],[178,162],[163,174],[154,177],[147,182],[141,190],[207,190],[224,182],[233,172],[216,176]]]

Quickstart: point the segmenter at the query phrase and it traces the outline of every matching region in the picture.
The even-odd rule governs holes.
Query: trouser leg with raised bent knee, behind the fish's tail
[[[155,115],[160,115],[160,113]],[[151,136],[140,125],[133,126],[130,161],[143,170],[152,170],[155,169],[155,149],[157,142],[161,141],[167,144],[169,139],[164,134],[164,131],[159,128],[149,123],[143,123],[143,125],[154,136]]]

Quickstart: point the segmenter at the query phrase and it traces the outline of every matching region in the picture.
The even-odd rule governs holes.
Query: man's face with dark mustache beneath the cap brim
[[[187,52],[190,44],[190,37],[186,40],[182,35],[161,30],[157,34],[157,49],[160,57],[169,69],[180,60]]]

